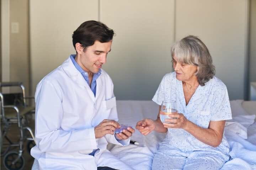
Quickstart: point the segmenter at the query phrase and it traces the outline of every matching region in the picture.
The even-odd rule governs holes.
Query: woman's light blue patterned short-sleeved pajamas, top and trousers
[[[199,85],[186,106],[182,81],[176,79],[176,72],[168,73],[152,100],[159,105],[163,100],[175,100],[178,113],[202,128],[208,128],[210,121],[232,119],[228,91],[216,77],[204,86]],[[169,128],[155,153],[152,169],[217,170],[229,160],[228,153],[229,144],[224,135],[220,145],[214,148],[183,129]]]

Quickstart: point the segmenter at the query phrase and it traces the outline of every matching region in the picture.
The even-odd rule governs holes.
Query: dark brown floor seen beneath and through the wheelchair
[[[3,130],[2,126],[3,126],[3,123],[1,122],[1,130]],[[34,133],[34,120],[29,121],[28,126],[31,127],[31,129]],[[29,133],[28,133],[27,130],[25,130],[25,134],[26,134],[27,137],[31,137],[31,136],[29,136]],[[7,136],[9,137],[9,139],[13,143],[16,143],[16,142],[19,141],[20,131],[18,129],[17,124],[12,124],[10,126],[10,129],[8,131]],[[30,153],[28,153],[28,151],[27,151],[27,143],[28,143],[28,141],[24,140],[22,156],[24,158],[25,166],[24,166],[23,170],[31,170],[31,167],[32,167],[32,164],[33,164],[33,161],[34,161],[34,158],[31,157]],[[3,138],[3,148],[1,150],[1,153],[6,150],[8,144],[9,144],[9,142],[5,138]],[[9,152],[18,152],[18,150],[19,150],[19,147],[12,147],[12,148],[10,148]],[[1,168],[1,170],[6,170],[6,168],[4,166],[4,155],[1,155],[1,166],[0,166],[0,168]]]

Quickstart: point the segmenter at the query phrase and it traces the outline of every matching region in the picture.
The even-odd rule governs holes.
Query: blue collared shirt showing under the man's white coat
[[[82,74],[82,76],[84,77],[87,84],[90,86],[88,73],[86,71],[84,71],[81,68],[81,66],[79,66],[79,64],[75,61],[75,56],[76,56],[75,54],[71,54],[70,58],[74,64],[74,66],[76,67],[76,69],[78,69],[78,71]],[[99,69],[98,73],[94,73],[94,75],[92,77],[91,90],[94,93],[94,96],[96,95],[96,80],[100,75],[101,75],[101,69]]]

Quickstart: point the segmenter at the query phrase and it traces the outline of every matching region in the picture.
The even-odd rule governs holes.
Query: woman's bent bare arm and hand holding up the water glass
[[[196,137],[199,141],[206,143],[212,147],[217,147],[222,142],[223,131],[225,126],[225,120],[221,121],[210,121],[209,127],[201,128],[200,126],[187,120],[187,118],[181,114],[171,114],[169,117],[178,119],[165,119],[167,122],[175,123],[169,124],[164,123],[165,128],[181,128],[189,132],[191,135]]]

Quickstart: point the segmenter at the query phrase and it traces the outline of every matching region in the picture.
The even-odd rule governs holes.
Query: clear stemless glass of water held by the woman
[[[176,106],[176,101],[174,100],[164,100],[162,101],[161,105],[161,111],[160,112],[160,120],[162,123],[169,123],[165,122],[165,119],[172,119],[169,117],[169,114],[176,114],[177,112],[177,106]],[[173,118],[177,119],[177,118]],[[172,123],[170,123],[172,124]]]

